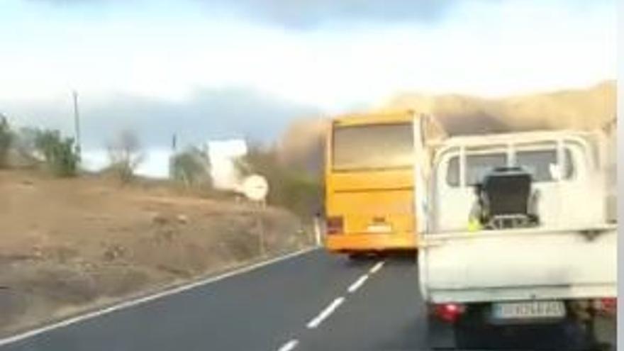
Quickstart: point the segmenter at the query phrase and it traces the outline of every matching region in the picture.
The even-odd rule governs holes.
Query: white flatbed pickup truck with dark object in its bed
[[[521,349],[553,333],[559,350],[615,342],[617,224],[602,145],[576,131],[471,135],[436,145],[431,162],[417,156],[428,165],[415,168],[428,189],[416,211],[433,348],[515,335]]]

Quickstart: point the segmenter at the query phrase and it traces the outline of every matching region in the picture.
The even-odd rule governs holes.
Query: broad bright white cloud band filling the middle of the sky
[[[294,1],[299,7],[291,2],[280,7],[277,0],[266,0],[263,6],[259,0],[181,0],[175,4],[171,0],[13,1],[20,6],[12,12],[6,6],[0,11],[0,19],[5,20],[0,21],[0,42],[7,49],[0,65],[0,100],[13,99],[16,106],[17,101],[45,100],[79,89],[85,96],[86,115],[118,114],[117,106],[100,107],[111,102],[143,110],[156,108],[154,114],[192,106],[195,109],[188,114],[194,116],[198,108],[194,104],[208,108],[193,95],[196,87],[213,89],[206,91],[210,96],[224,91],[218,89],[245,87],[263,91],[273,100],[279,96],[290,101],[279,106],[322,106],[339,113],[377,104],[400,91],[503,96],[582,87],[613,78],[617,66],[615,14],[603,6],[612,4],[611,0],[601,1],[600,6],[580,0],[568,0],[571,4],[477,0],[449,5],[454,7],[450,18],[432,28],[392,21],[311,31],[217,18],[218,9],[238,9],[263,18],[267,13],[301,9],[296,16],[316,13],[315,18],[323,21],[364,15],[340,11],[342,6],[356,4],[355,0],[336,0],[335,4]],[[38,6],[21,6],[24,1],[113,1],[123,6],[113,6],[114,11],[95,5],[89,9],[85,5],[85,11],[61,7],[30,11]],[[126,7],[128,2],[133,5]],[[395,8],[436,1],[386,2],[384,6]],[[377,13],[372,9],[380,5],[374,4],[362,5],[360,11],[374,12],[370,16],[391,11]],[[584,6],[586,11],[577,11]],[[303,11],[310,7],[318,11]],[[258,9],[257,13],[252,9]],[[89,106],[93,96],[116,98]],[[255,96],[262,100],[261,94]],[[62,100],[33,103],[26,110],[47,106],[37,114],[50,116],[52,107],[62,106],[57,115],[70,120],[71,105],[67,96]]]

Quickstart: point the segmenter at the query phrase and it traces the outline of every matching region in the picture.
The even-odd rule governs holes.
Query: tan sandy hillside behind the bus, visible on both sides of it
[[[405,108],[434,113],[454,135],[532,129],[591,130],[615,118],[616,84],[608,81],[587,89],[547,91],[503,99],[406,93],[384,101],[373,111]],[[329,120],[325,118],[293,123],[279,143],[282,159],[300,163],[305,160],[300,166],[321,169],[323,140],[329,126]]]

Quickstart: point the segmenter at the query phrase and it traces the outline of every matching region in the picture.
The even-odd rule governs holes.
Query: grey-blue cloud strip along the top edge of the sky
[[[91,6],[138,4],[163,9],[183,9],[199,6],[204,14],[215,19],[225,16],[242,17],[282,26],[288,29],[310,29],[325,25],[350,23],[421,23],[435,24],[452,16],[453,11],[476,6],[506,6],[533,4],[538,8],[558,7],[560,10],[586,11],[603,5],[614,6],[615,0],[23,0],[57,6]],[[479,13],[474,13],[479,16]]]

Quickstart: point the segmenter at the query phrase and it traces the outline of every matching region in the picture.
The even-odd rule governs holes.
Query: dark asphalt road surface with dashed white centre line
[[[423,350],[416,273],[314,250],[0,351]]]

